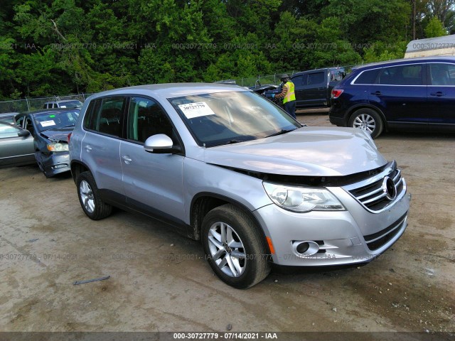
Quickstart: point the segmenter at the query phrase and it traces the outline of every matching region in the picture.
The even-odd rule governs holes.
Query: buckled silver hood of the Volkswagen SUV
[[[384,166],[357,128],[303,127],[287,134],[205,149],[206,163],[260,173],[343,176]]]

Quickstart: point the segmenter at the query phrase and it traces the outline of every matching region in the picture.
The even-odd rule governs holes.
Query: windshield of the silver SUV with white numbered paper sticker
[[[219,146],[283,134],[301,127],[268,99],[250,91],[169,99],[200,146]]]

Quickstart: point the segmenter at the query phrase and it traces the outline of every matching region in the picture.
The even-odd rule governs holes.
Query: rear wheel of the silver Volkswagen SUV
[[[76,180],[77,197],[85,215],[92,220],[100,220],[109,216],[112,206],[106,204],[100,195],[92,173],[80,173]]]

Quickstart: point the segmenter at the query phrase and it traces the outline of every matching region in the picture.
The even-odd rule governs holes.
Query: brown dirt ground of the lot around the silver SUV
[[[318,110],[298,118],[331,125]],[[455,135],[376,144],[412,193],[402,238],[366,266],[275,269],[243,291],[164,224],[122,211],[89,220],[70,175],[1,169],[0,331],[455,332]]]

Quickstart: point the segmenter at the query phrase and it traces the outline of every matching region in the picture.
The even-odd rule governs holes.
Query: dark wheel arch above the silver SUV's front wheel
[[[261,238],[267,247],[267,252],[270,252],[264,229],[262,228],[255,215],[252,214],[251,210],[249,210],[248,207],[243,205],[241,202],[238,202],[231,197],[226,197],[217,193],[198,193],[193,197],[193,200],[191,200],[190,225],[193,227],[193,238],[200,240],[200,230],[205,215],[207,215],[207,213],[213,210],[215,207],[220,207],[225,204],[234,205],[239,210],[242,210],[242,212],[245,212],[245,214],[247,214],[255,222],[255,224],[257,224],[257,227],[259,227],[260,231],[262,232]]]

